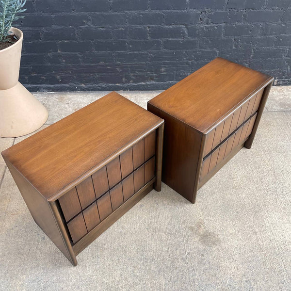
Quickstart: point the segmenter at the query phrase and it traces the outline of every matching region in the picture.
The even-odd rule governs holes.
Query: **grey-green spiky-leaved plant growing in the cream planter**
[[[24,18],[18,14],[24,12],[23,9],[26,0],[0,0],[0,42],[6,42],[10,39],[9,30],[11,29],[12,22]],[[15,25],[16,26],[16,25]]]

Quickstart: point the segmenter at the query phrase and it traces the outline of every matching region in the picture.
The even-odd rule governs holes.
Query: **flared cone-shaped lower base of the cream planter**
[[[19,82],[0,90],[0,137],[18,137],[39,129],[48,119],[47,109]]]

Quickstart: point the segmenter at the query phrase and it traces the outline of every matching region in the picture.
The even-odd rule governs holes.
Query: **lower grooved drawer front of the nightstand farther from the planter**
[[[202,162],[199,181],[206,178],[211,172],[220,167],[232,151],[240,146],[251,134],[255,124],[257,113],[243,123],[241,127],[230,134],[219,146],[214,148]]]

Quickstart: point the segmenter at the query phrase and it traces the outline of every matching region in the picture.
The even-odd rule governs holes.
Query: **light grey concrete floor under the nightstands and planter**
[[[35,96],[46,127],[106,93]],[[120,93],[146,107],[159,92]],[[0,151],[24,138],[0,138]],[[272,88],[253,147],[195,205],[163,184],[77,259],[34,223],[0,158],[0,290],[291,290],[291,86]]]

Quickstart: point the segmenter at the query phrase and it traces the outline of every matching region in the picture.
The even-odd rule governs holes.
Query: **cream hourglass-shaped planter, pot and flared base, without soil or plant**
[[[39,129],[48,119],[47,109],[18,82],[23,33],[12,46],[0,50],[0,137],[17,137]]]

